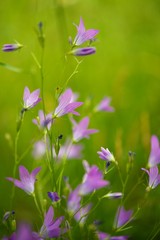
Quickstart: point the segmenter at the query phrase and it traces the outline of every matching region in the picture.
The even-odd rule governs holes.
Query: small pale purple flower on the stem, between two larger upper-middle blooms
[[[50,130],[52,125],[52,113],[49,113],[45,116],[43,110],[39,110],[38,117],[33,119],[33,123],[40,128],[47,127],[48,130]]]

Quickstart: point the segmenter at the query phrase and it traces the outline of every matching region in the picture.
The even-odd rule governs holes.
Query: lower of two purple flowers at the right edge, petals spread
[[[149,186],[147,190],[154,189],[160,184],[160,174],[158,174],[158,167],[152,167],[149,170],[142,168],[149,176]]]

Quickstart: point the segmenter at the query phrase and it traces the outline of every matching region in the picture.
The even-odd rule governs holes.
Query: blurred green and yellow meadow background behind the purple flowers
[[[5,180],[12,176],[14,163],[13,151],[6,140],[9,134],[10,144],[14,145],[16,119],[22,107],[25,86],[31,90],[40,87],[40,73],[31,55],[40,59],[41,49],[35,29],[38,22],[44,23],[44,95],[48,112],[53,109],[57,87],[73,72],[76,62],[72,57],[65,61],[65,54],[70,50],[68,37],[74,38],[80,16],[87,29],[99,29],[95,45],[97,53],[85,57],[80,64],[79,73],[69,82],[75,92],[80,93],[80,101],[97,104],[104,96],[112,97],[115,113],[99,113],[92,116],[90,126],[100,132],[84,140],[84,158],[90,163],[99,163],[97,151],[101,146],[108,147],[119,161],[125,178],[125,166],[128,151],[136,152],[134,168],[131,172],[128,191],[136,184],[141,175],[141,167],[146,166],[150,151],[150,136],[160,136],[160,2],[158,0],[5,0],[0,4],[0,44],[14,43],[17,40],[24,47],[17,52],[0,51],[0,62],[22,69],[13,72],[0,66],[0,212],[1,216],[9,209],[11,184]],[[42,106],[41,106],[42,107]],[[32,124],[39,107],[26,114],[18,150],[23,153],[38,130]],[[82,116],[87,114],[83,108]],[[67,135],[70,130],[67,118],[62,129]],[[7,135],[8,136],[8,135]],[[38,137],[37,137],[38,139]],[[29,169],[35,166],[31,151],[22,161]],[[69,162],[68,172],[71,180],[77,177],[75,169],[80,169],[79,179],[83,175],[81,162]],[[102,164],[103,165],[103,164]],[[101,165],[101,166],[102,166]],[[67,174],[66,173],[66,174]],[[74,177],[73,177],[74,176]],[[120,191],[118,174],[109,175],[114,191]],[[147,181],[144,179],[144,183]],[[73,181],[73,186],[74,181]],[[49,189],[47,189],[49,190]],[[126,207],[135,209],[142,201],[145,185],[138,187],[131,194]],[[159,228],[160,205],[159,189],[150,194],[149,200],[140,211],[138,219],[128,234],[131,239],[147,238],[152,230]],[[96,219],[102,219],[101,230],[109,232],[119,202],[103,201]],[[29,196],[16,189],[14,202],[19,219],[29,218],[34,205]],[[22,211],[23,209],[23,211]],[[104,214],[105,212],[105,214]],[[157,237],[157,235],[156,235]],[[160,239],[160,238],[152,238]]]

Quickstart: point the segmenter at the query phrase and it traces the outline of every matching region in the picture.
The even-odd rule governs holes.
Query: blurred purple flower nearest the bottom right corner
[[[131,221],[132,214],[132,210],[126,211],[124,207],[119,207],[115,218],[115,228],[120,228]]]

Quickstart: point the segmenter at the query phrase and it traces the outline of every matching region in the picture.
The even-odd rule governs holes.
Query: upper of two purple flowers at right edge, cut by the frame
[[[160,145],[157,136],[151,137],[151,152],[149,155],[148,165],[154,167],[160,163]]]

